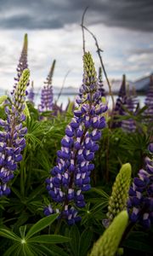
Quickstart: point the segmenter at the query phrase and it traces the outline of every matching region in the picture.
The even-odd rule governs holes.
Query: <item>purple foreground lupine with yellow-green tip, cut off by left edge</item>
[[[17,163],[22,160],[21,151],[26,147],[25,135],[27,128],[23,127],[26,116],[23,113],[26,100],[26,86],[29,79],[26,69],[20,77],[12,99],[5,108],[7,119],[0,119],[0,196],[8,195],[8,182],[14,177]]]

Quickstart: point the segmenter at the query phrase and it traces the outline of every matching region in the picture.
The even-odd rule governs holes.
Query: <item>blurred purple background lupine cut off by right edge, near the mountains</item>
[[[153,121],[153,74],[150,76],[149,90],[144,103],[148,107],[144,111],[144,115],[149,116],[148,119],[145,119],[145,122],[148,124],[150,121]]]

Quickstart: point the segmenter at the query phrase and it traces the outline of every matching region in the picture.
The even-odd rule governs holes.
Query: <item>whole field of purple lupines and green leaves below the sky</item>
[[[0,254],[152,255],[153,77],[140,108],[123,75],[110,109],[84,52],[75,102],[54,101],[53,61],[36,106],[27,50],[0,97]]]

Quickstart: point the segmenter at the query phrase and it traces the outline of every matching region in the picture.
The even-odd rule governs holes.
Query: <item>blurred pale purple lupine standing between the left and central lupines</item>
[[[52,86],[52,78],[54,74],[54,66],[55,60],[53,61],[52,67],[48,73],[48,77],[46,82],[44,82],[42,91],[41,91],[41,104],[40,104],[40,111],[48,111],[53,109],[54,105],[54,94],[53,94],[53,86]]]

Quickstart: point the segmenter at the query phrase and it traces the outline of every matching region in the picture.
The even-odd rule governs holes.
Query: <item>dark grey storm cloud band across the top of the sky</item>
[[[88,25],[153,32],[152,0],[0,0],[0,27],[48,29],[80,24],[87,6]]]

